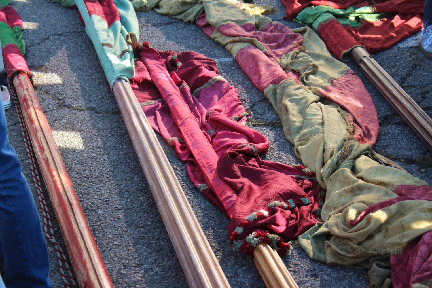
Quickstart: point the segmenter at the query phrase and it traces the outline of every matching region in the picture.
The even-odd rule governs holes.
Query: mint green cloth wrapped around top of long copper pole
[[[121,21],[114,22],[108,28],[105,19],[98,15],[90,16],[83,0],[76,0],[76,6],[86,23],[86,33],[95,46],[111,87],[116,79],[129,81],[135,75],[133,48],[127,45],[126,35],[132,32],[139,39],[138,20],[130,1],[114,0],[114,3],[117,5]],[[105,43],[110,44],[114,49],[102,46]],[[119,57],[126,49],[129,52]]]

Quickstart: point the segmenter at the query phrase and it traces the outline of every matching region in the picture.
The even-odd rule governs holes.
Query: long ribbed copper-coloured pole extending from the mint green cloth
[[[117,79],[113,91],[188,284],[230,287],[130,84]]]

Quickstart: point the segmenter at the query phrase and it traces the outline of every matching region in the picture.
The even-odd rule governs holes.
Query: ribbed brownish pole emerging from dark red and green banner
[[[351,58],[360,66],[363,73],[390,102],[408,125],[416,132],[426,146],[432,150],[432,120],[422,108],[391,78],[363,47],[355,47]]]

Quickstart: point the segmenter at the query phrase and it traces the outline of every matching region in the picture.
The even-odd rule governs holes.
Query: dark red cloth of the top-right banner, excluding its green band
[[[388,49],[419,32],[423,25],[424,0],[282,0],[282,3],[286,19],[294,19],[308,6],[319,5],[334,9],[370,6],[374,13],[388,13],[376,21],[363,20],[359,27],[342,25],[336,19],[322,19],[317,25],[318,34],[339,59],[356,46],[365,47],[371,54]]]

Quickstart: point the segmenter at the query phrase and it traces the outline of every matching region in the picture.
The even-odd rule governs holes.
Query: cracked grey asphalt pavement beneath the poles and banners
[[[279,12],[278,0],[260,0]],[[153,201],[114,95],[108,88],[92,43],[79,21],[77,9],[45,0],[13,0],[24,21],[26,60],[35,73],[35,88],[96,243],[116,287],[187,287],[168,234]],[[196,25],[154,11],[137,13],[140,41],[159,50],[194,50],[217,61],[220,74],[238,88],[255,126],[271,142],[267,160],[300,164],[283,136],[279,117],[252,85],[228,51]],[[420,51],[418,35],[375,59],[432,116],[432,59]],[[381,123],[375,150],[432,184],[432,153],[391,108],[354,63],[348,63],[365,82]],[[31,173],[15,108],[6,111],[9,137],[30,183]],[[159,140],[162,138],[159,137]],[[229,247],[228,218],[195,190],[184,164],[172,147],[160,141],[184,192],[232,287],[264,287],[253,260]],[[31,184],[31,187],[34,186]],[[52,212],[52,214],[54,214]],[[57,237],[58,225],[54,223]],[[61,244],[64,247],[63,241]],[[367,271],[329,266],[311,260],[294,242],[283,258],[299,287],[365,287]],[[48,244],[54,287],[62,280],[54,248]]]

